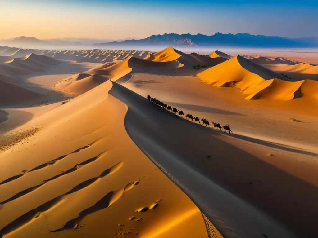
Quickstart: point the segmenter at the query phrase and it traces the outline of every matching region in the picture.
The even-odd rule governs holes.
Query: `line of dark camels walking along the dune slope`
[[[154,97],[150,97],[150,95],[147,96],[147,99],[151,102],[154,102],[155,104],[157,104],[158,106],[172,112],[173,114],[176,114],[178,116],[181,116],[185,119],[187,119],[188,121],[191,120],[191,122],[194,121],[194,123],[199,123],[201,125],[201,122],[202,122],[202,125],[205,125],[205,126],[208,126],[210,127],[210,123],[208,120],[204,119],[204,118],[201,118],[201,122],[200,122],[200,119],[198,117],[193,117],[191,114],[186,114],[186,116],[184,116],[184,113],[183,111],[181,110],[178,110],[176,108],[172,108],[171,105],[167,105],[166,103],[164,102],[161,102],[159,101],[158,99],[154,98]],[[226,131],[229,131],[229,134],[233,132],[231,131],[230,129],[230,126],[229,125],[224,125],[224,126],[221,126],[220,123],[215,123],[212,121],[212,124],[213,124],[213,128],[215,127],[216,130],[220,129],[220,131],[222,130],[222,128],[224,129],[224,132],[226,133]]]

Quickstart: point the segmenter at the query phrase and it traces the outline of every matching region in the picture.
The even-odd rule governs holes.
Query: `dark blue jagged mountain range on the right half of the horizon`
[[[186,46],[186,47],[206,47],[206,46],[232,46],[232,47],[318,47],[318,42],[306,39],[291,39],[280,36],[250,35],[247,33],[222,34],[216,33],[212,36],[202,34],[163,34],[152,35],[140,40],[125,40],[105,43],[95,43],[97,47],[108,46]]]

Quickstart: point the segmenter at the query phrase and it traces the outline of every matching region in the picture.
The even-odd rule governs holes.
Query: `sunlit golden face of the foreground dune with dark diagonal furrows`
[[[208,238],[200,210],[128,136],[110,88],[59,103],[0,154],[0,168],[13,165],[0,175],[1,235]]]

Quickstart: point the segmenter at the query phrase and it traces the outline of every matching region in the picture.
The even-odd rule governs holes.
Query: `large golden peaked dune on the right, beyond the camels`
[[[248,94],[245,99],[290,100],[299,97],[313,98],[308,103],[316,103],[315,89],[318,82],[313,80],[286,81],[285,78],[265,69],[241,56],[207,69],[198,74],[206,83],[217,87],[236,87]],[[308,90],[308,85],[313,89]]]

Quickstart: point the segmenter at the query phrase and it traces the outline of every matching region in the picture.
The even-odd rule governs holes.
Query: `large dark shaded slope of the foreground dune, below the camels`
[[[109,94],[128,106],[124,125],[136,145],[224,237],[317,235],[316,186],[121,85]]]

